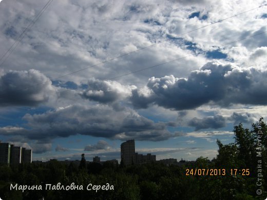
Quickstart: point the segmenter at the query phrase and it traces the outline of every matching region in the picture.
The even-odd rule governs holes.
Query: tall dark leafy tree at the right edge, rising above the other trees
[[[267,127],[261,117],[257,123],[252,124],[252,130],[243,128],[241,123],[235,126],[234,134],[235,143],[223,145],[217,140],[219,149],[215,161],[216,167],[221,167],[228,171],[231,169],[248,169],[250,171],[250,176],[242,176],[239,175],[239,173],[235,175],[230,174],[230,176],[228,174],[228,177],[223,177],[222,182],[235,188],[231,190],[231,192],[235,195],[236,199],[251,199],[251,196],[255,196],[255,191],[257,189],[255,180],[257,181],[257,173],[259,172],[259,159],[261,162],[260,172],[263,174],[261,189],[266,191],[264,178],[267,176]]]

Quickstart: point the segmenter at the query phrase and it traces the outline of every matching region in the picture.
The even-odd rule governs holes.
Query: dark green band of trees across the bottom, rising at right
[[[266,125],[260,118],[258,124],[252,124],[252,130],[245,129],[239,124],[234,127],[234,133],[235,143],[223,145],[217,141],[218,156],[213,161],[199,157],[195,163],[183,166],[165,166],[159,163],[127,167],[106,163],[102,166],[98,163],[85,165],[83,161],[80,166],[74,164],[66,166],[58,161],[50,161],[46,165],[0,166],[0,197],[5,200],[265,199],[267,196]],[[197,173],[194,174],[195,169],[218,170],[217,175],[214,175],[214,172],[212,175],[210,171],[205,175],[198,175],[199,172],[203,173],[203,170],[196,170]],[[244,169],[243,175],[242,169]],[[186,171],[189,171],[189,175],[186,175]],[[74,183],[76,186],[83,186],[83,190],[45,189],[46,184],[56,186],[58,183],[61,183],[61,186],[70,186]],[[114,189],[100,189],[97,192],[92,189],[93,185],[103,186],[107,183]],[[41,185],[42,190],[24,192],[10,190],[11,184]],[[87,190],[89,184],[91,190]],[[261,190],[262,194],[258,195],[257,190]]]

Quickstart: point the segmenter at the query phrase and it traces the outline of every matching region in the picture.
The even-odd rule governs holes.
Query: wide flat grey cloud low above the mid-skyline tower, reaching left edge
[[[2,127],[0,134],[21,135],[44,143],[56,137],[77,134],[145,141],[162,141],[173,136],[164,123],[154,123],[129,108],[118,111],[104,105],[69,106],[43,114],[26,114],[23,119],[28,122],[27,128]]]

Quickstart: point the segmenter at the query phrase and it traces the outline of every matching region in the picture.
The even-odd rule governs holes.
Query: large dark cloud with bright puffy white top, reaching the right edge
[[[176,110],[194,109],[207,103],[222,107],[266,105],[266,77],[266,71],[213,61],[192,71],[188,78],[151,77],[145,87],[132,91],[131,102],[136,108],[156,104]]]

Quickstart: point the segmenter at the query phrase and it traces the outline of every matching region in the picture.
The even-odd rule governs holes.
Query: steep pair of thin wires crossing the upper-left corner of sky
[[[0,67],[5,63],[6,59],[9,57],[9,55],[15,50],[17,45],[22,41],[22,39],[25,37],[26,33],[29,31],[29,29],[36,23],[36,21],[40,18],[40,16],[48,8],[48,6],[51,4],[52,1],[53,0],[49,0],[46,3],[46,5],[42,8],[42,10],[32,19],[31,23],[26,27],[26,29],[24,29],[24,31],[20,34],[20,36],[18,36],[16,38],[15,42],[9,47],[9,49],[6,51],[6,53],[0,58],[0,61],[2,61],[2,59],[3,59],[3,61],[0,64]]]

